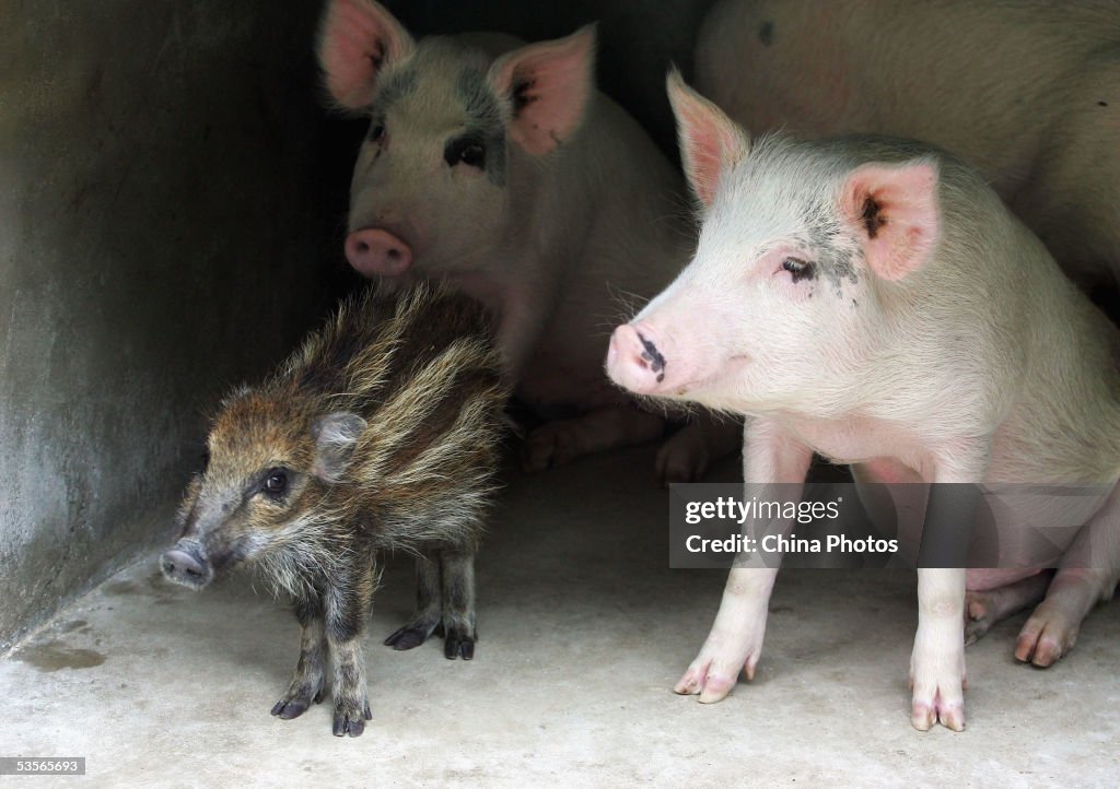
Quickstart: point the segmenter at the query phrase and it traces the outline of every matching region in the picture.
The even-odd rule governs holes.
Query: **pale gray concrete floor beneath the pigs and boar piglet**
[[[152,557],[0,660],[0,755],[86,757],[86,778],[58,786],[1120,781],[1120,605],[1095,611],[1048,670],[1011,657],[1024,616],[996,628],[968,651],[968,731],[923,734],[906,691],[913,574],[792,570],[754,683],[710,706],[675,696],[725,573],[668,567],[652,467],[641,448],[511,472],[479,556],[473,663],[446,660],[439,641],[381,646],[412,601],[411,565],[394,560],[361,739],[330,735],[328,704],[269,715],[298,648],[282,604],[246,575],[174,588]]]

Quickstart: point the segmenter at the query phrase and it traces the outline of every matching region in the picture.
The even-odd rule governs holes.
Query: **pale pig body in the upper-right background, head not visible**
[[[963,158],[1083,284],[1120,284],[1120,3],[721,0],[696,85],[754,133]]]

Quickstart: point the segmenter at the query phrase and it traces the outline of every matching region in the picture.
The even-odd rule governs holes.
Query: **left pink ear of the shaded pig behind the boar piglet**
[[[412,36],[374,0],[332,0],[319,31],[319,67],[342,106],[370,104],[377,75],[414,49]]]

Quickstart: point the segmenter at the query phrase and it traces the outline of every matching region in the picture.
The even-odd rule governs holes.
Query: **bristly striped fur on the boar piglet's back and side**
[[[374,547],[474,539],[468,525],[493,491],[508,385],[491,317],[473,301],[424,284],[396,297],[370,288],[344,302],[265,391],[314,401],[297,408],[301,415],[349,411],[366,420],[337,490],[316,504],[317,526],[361,525]],[[455,525],[439,523],[449,513]],[[401,526],[431,523],[402,532],[401,516]]]

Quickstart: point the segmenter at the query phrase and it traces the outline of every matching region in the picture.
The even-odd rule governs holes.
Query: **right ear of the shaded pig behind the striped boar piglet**
[[[567,38],[506,53],[489,69],[498,96],[513,102],[510,137],[541,156],[579,129],[595,91],[595,26]]]

